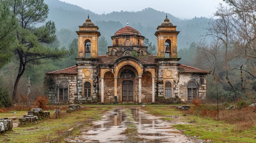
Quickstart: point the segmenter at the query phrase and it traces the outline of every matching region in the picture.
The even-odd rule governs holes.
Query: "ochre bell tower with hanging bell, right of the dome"
[[[157,26],[155,36],[157,36],[157,56],[166,58],[177,58],[177,26],[173,26],[170,20],[164,19],[161,25]]]

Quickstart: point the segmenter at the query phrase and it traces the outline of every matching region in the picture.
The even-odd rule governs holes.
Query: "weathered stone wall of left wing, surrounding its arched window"
[[[58,84],[61,81],[66,81],[69,86],[69,101],[67,103],[74,103],[75,102],[75,95],[77,94],[77,75],[49,75],[50,80],[52,83],[49,85],[49,103],[56,103],[58,102]],[[60,101],[60,103],[64,103]]]

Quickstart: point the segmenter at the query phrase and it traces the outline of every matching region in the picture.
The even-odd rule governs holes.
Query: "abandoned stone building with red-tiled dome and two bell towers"
[[[179,64],[179,31],[167,16],[155,32],[157,55],[148,53],[144,36],[128,25],[111,37],[106,55],[98,55],[98,30],[88,16],[76,31],[77,64],[46,73],[51,103],[153,103],[156,96],[187,102],[206,96],[209,71]]]

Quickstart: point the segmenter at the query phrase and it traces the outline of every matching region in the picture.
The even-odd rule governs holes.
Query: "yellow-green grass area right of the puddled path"
[[[177,110],[173,107],[157,106],[146,107],[144,110],[148,114],[155,116],[182,115],[187,111]],[[229,110],[230,112],[230,110]],[[231,114],[231,113],[229,113]],[[234,132],[238,129],[239,123],[230,124],[227,121],[216,121],[209,117],[200,117],[196,115],[186,115],[180,121],[189,124],[173,125],[178,130],[183,130],[184,134],[189,136],[198,136],[199,139],[211,139],[214,143],[255,143],[256,128],[255,126],[241,132]],[[239,129],[238,129],[239,130]]]

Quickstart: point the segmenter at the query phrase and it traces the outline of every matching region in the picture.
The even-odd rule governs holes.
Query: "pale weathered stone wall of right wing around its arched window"
[[[206,75],[179,75],[179,97],[183,102],[187,101],[187,84],[195,81],[198,84],[198,97],[206,97]]]

